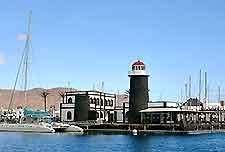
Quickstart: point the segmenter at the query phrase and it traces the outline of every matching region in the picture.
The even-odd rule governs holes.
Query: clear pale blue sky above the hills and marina
[[[105,91],[124,93],[132,63],[142,60],[151,100],[179,100],[189,75],[197,96],[200,69],[210,98],[218,86],[225,97],[224,0],[1,0],[0,88],[14,84],[30,10],[29,88],[104,82]]]

